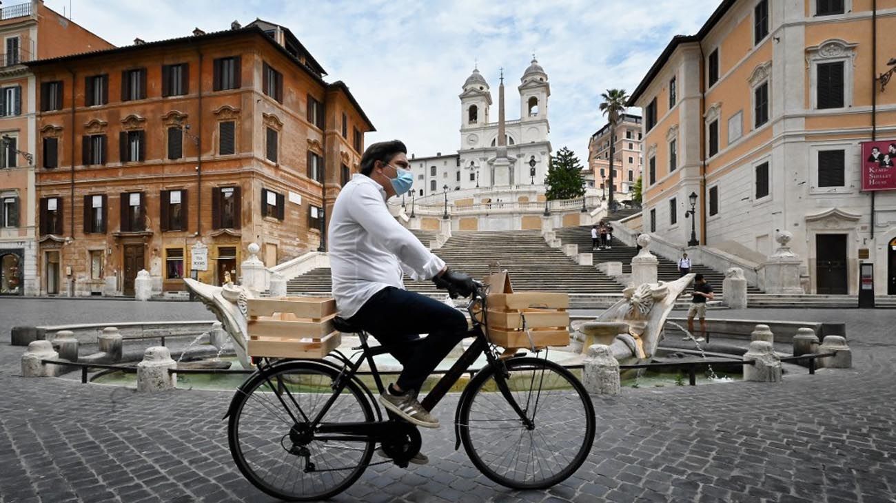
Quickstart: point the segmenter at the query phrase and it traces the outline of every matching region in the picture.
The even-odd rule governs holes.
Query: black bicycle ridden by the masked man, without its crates
[[[575,473],[595,434],[594,407],[579,379],[542,357],[504,358],[487,330],[487,292],[471,296],[467,310],[476,340],[422,401],[427,410],[452,389],[481,354],[487,364],[463,388],[455,413],[455,445],[489,479],[517,490],[544,489]],[[230,453],[249,482],[280,499],[327,499],[346,490],[383,449],[407,467],[420,449],[417,426],[383,416],[360,379],[363,362],[380,393],[383,381],[366,333],[336,319],[343,333],[356,333],[355,361],[339,351],[326,360],[258,361],[238,389],[227,415]],[[542,353],[536,351],[536,354]],[[545,354],[546,356],[546,354]]]

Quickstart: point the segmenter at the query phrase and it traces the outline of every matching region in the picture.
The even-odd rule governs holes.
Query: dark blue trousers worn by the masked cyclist
[[[467,337],[467,319],[461,311],[394,286],[370,297],[349,321],[376,337],[401,362],[404,369],[395,384],[405,390],[419,391],[439,362]]]

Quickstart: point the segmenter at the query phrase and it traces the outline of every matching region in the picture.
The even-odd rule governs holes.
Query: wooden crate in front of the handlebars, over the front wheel
[[[488,337],[495,345],[508,349],[569,345],[568,294],[488,294],[487,304]]]

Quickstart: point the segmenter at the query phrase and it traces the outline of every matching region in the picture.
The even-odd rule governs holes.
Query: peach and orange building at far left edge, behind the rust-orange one
[[[40,0],[0,5],[0,38],[0,295],[34,295],[37,81],[25,64],[113,46]]]

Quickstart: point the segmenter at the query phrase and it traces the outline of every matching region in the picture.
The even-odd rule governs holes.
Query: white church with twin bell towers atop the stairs
[[[463,83],[461,145],[456,154],[411,158],[415,196],[479,189],[511,189],[544,192],[551,153],[547,122],[551,95],[547,73],[534,55],[522,73],[520,118],[506,120],[504,70],[499,77],[497,120],[492,122],[492,93],[485,77],[474,69]],[[447,187],[447,189],[445,189]],[[460,194],[459,194],[460,195]],[[452,198],[453,199],[453,198]]]

